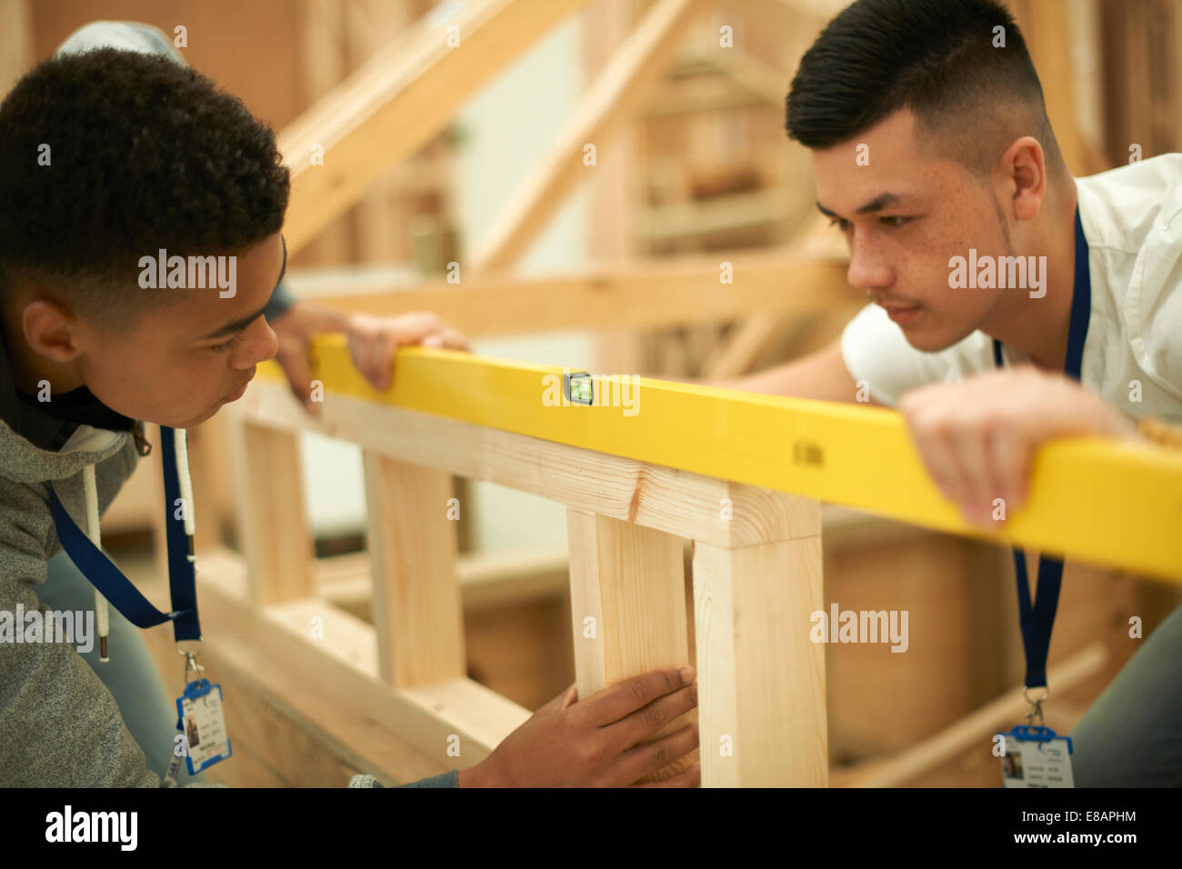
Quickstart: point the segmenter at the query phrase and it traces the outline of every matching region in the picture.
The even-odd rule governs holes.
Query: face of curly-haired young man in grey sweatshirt
[[[286,266],[279,233],[236,257],[234,294],[212,288],[168,288],[178,300],[143,313],[125,335],[77,324],[79,371],[112,410],[134,420],[191,428],[213,416],[274,357],[279,339],[262,317]],[[236,394],[234,398],[239,397]]]

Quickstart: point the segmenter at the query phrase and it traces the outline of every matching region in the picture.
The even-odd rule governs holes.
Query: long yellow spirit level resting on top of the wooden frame
[[[387,424],[403,430],[370,436],[359,423],[349,435],[362,443],[421,439],[421,448],[430,450],[431,461],[426,463],[452,473],[478,469],[478,455],[466,450],[491,443],[495,437],[488,430],[496,429],[650,462],[669,468],[669,474],[683,471],[779,489],[1182,582],[1182,536],[1177,533],[1182,454],[1149,443],[1061,439],[1046,445],[1034,463],[1027,505],[999,524],[998,531],[985,532],[965,523],[955,505],[940,494],[902,416],[894,410],[629,377],[623,389],[618,382],[613,387],[610,380],[596,377],[596,394],[603,400],[598,407],[563,407],[561,368],[422,348],[398,352],[394,384],[378,394],[353,367],[342,336],[318,339],[313,367],[313,376],[327,393],[358,398],[371,409],[355,408],[348,415],[351,420],[370,413],[377,423],[377,408],[387,407],[468,423],[448,427],[417,415],[397,420],[387,415],[382,417]],[[282,380],[274,363],[260,367],[259,374]],[[262,421],[262,415],[258,419]],[[344,419],[342,424],[358,426]],[[521,449],[525,456],[545,455],[537,443],[507,448]],[[450,454],[450,462],[444,454]],[[423,461],[426,456],[403,458]],[[486,471],[518,474],[522,484],[518,487],[527,491],[531,473],[548,474],[551,482],[564,475],[560,467],[534,465],[515,472],[507,467],[501,462],[500,469]],[[717,492],[702,495],[709,500]],[[602,499],[602,491],[595,497]],[[631,500],[621,518],[645,524],[647,506]],[[673,515],[682,510],[662,506]],[[714,510],[704,515],[717,513],[717,500],[710,506]],[[735,519],[740,520],[738,510]],[[650,520],[661,527],[658,518]],[[671,525],[677,527],[665,530],[682,532],[680,520]],[[709,525],[703,533],[722,533],[717,523]],[[741,521],[730,525],[725,532],[728,539],[743,533]]]

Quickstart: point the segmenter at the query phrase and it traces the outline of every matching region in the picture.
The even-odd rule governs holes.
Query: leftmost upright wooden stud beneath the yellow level
[[[280,603],[316,594],[312,533],[304,512],[299,433],[234,421],[239,546],[246,556],[251,597]]]

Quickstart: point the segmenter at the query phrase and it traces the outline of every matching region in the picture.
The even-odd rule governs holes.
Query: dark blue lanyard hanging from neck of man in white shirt
[[[1087,322],[1092,314],[1092,280],[1087,266],[1087,239],[1084,225],[1076,208],[1076,285],[1071,296],[1071,325],[1067,331],[1067,358],[1064,374],[1079,380],[1084,359],[1084,342],[1087,339]],[[993,339],[993,361],[1002,368],[1001,342]],[[1051,629],[1054,611],[1059,605],[1059,589],[1063,585],[1063,560],[1038,559],[1038,585],[1035,601],[1031,605],[1030,578],[1026,573],[1026,553],[1014,549],[1014,570],[1018,573],[1018,614],[1022,629],[1022,647],[1026,650],[1026,687],[1046,687],[1046,655],[1051,648]]]

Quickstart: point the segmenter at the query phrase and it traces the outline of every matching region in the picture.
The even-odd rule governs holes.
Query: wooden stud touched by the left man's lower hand
[[[579,698],[629,676],[689,663],[681,538],[573,508],[567,527]],[[681,715],[652,738],[681,729],[694,715]],[[650,778],[669,778],[696,755]]]

